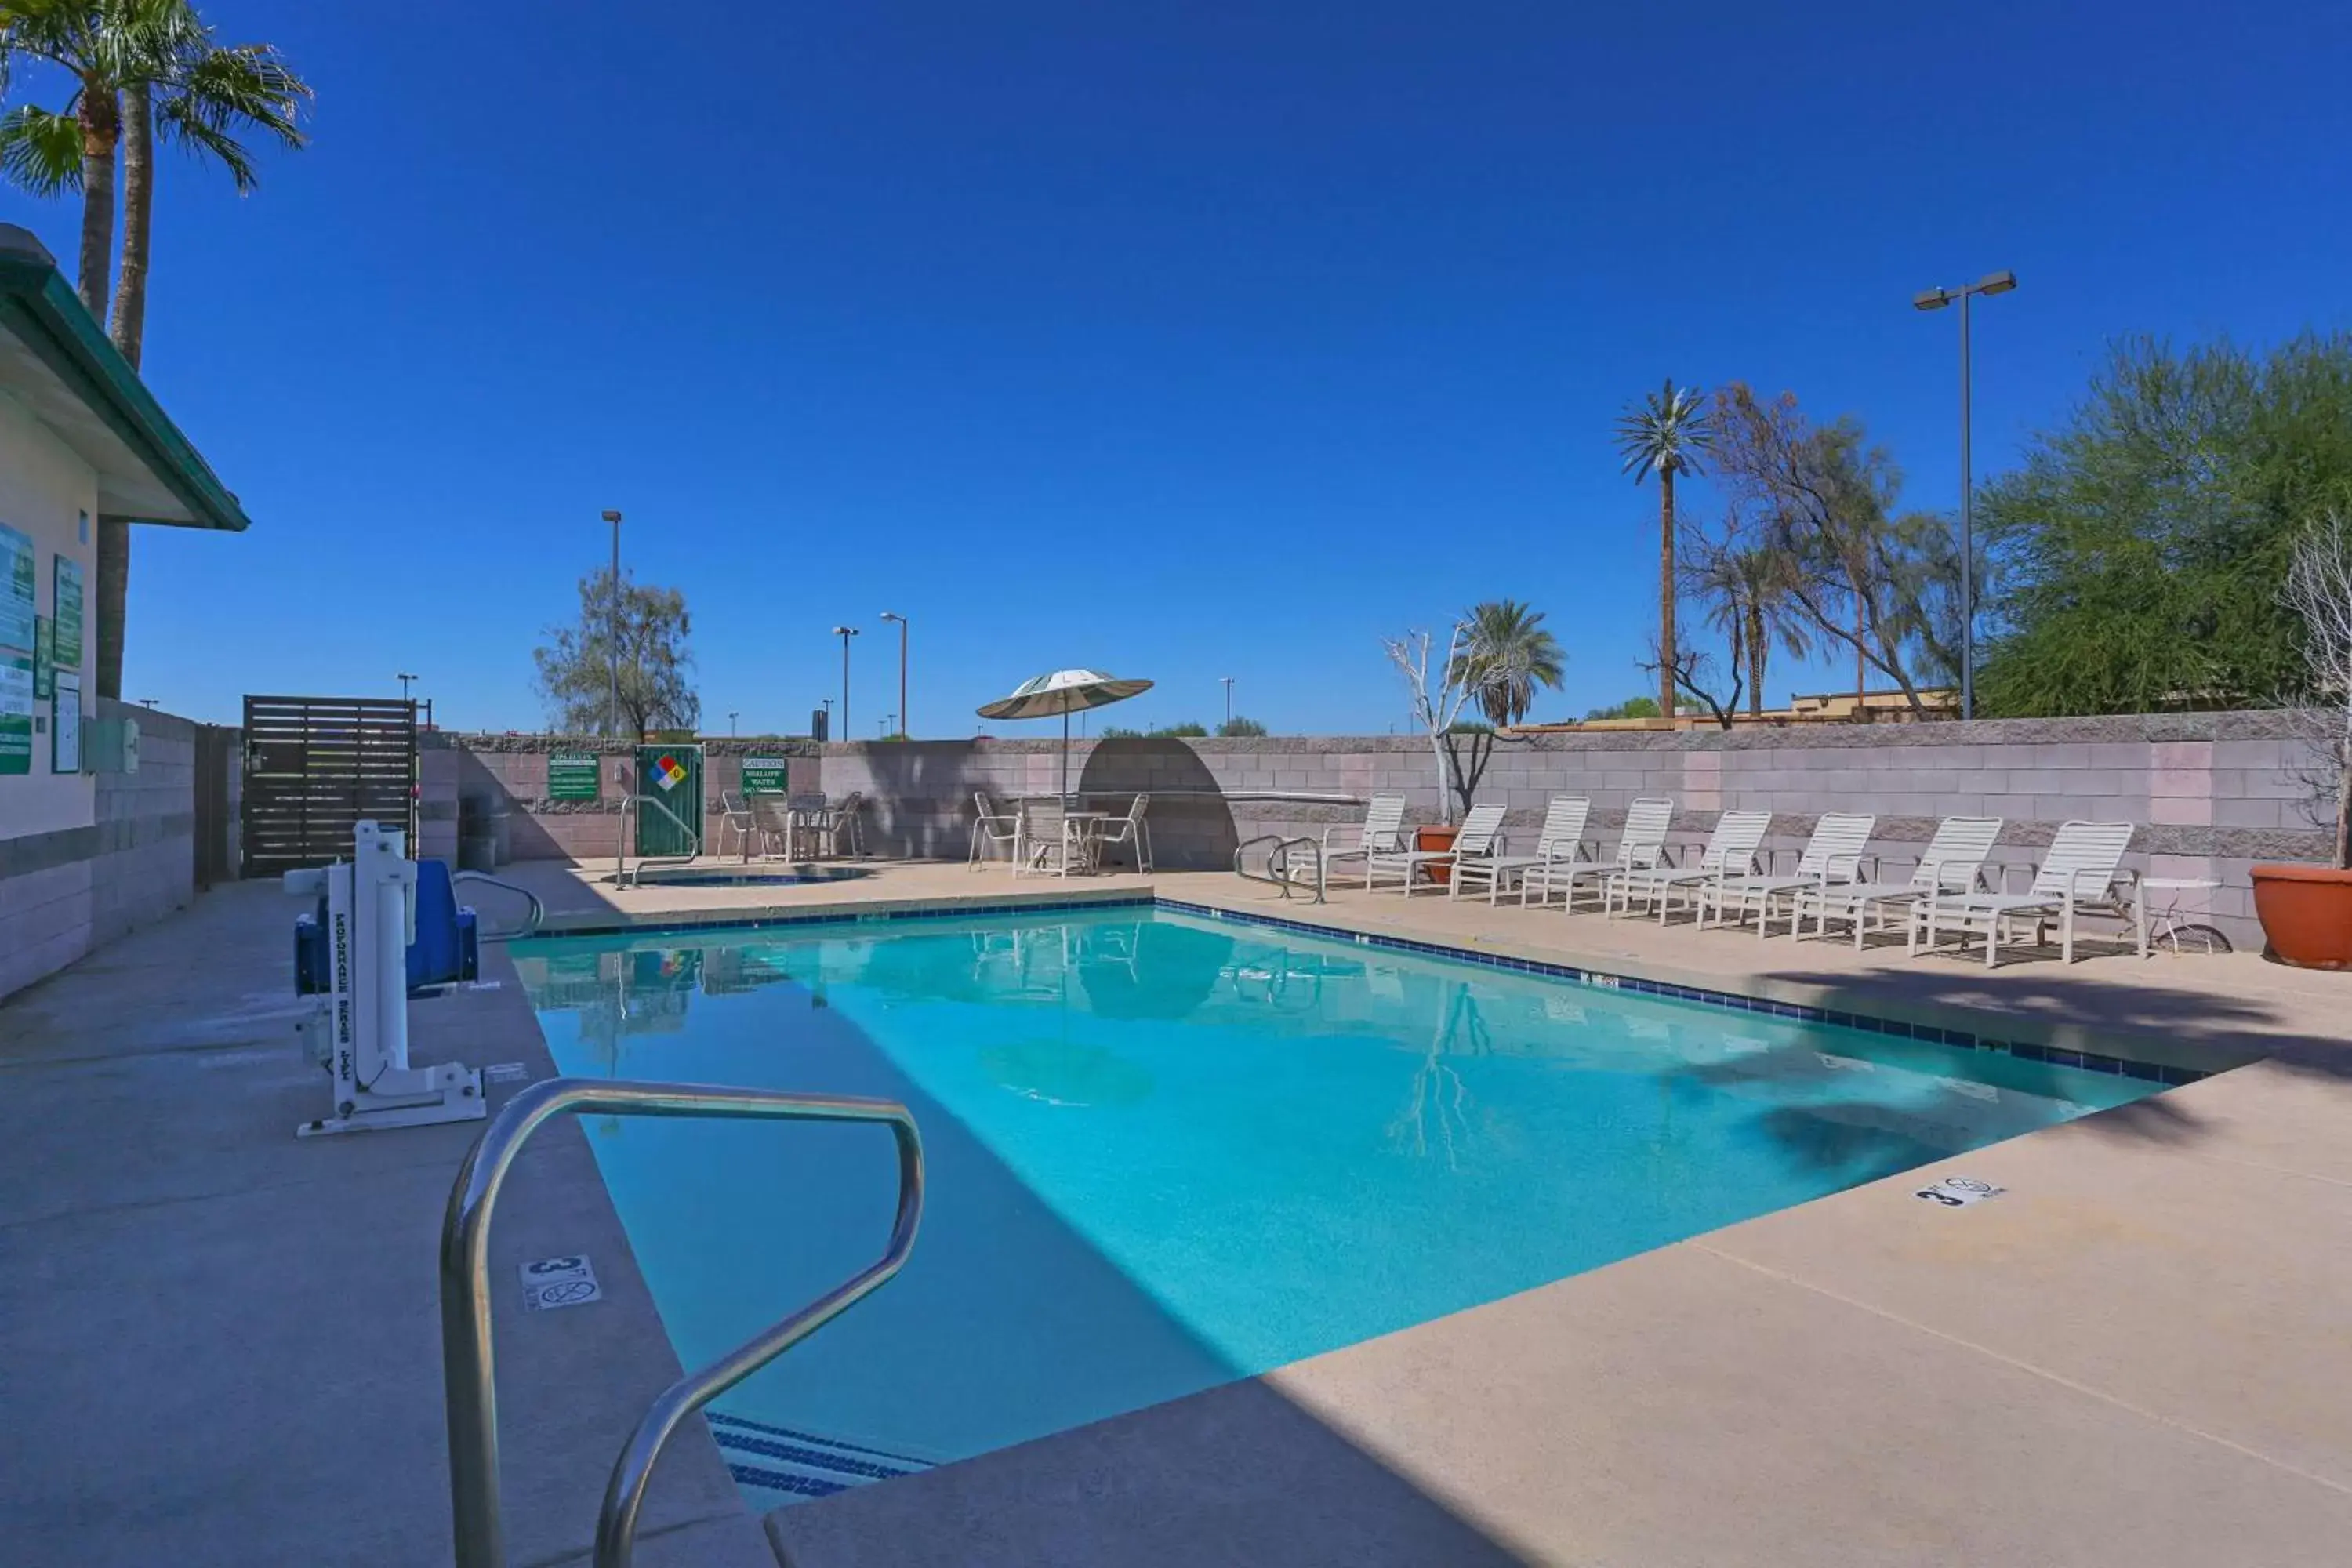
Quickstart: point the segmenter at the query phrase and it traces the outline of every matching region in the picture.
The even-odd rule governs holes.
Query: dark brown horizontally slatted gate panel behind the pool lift
[[[245,875],[350,856],[372,820],[416,842],[416,703],[381,696],[245,698]],[[414,851],[412,851],[414,853]]]

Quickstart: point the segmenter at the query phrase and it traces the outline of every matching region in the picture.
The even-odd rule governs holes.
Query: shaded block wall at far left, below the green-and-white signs
[[[0,997],[195,898],[195,724],[99,698],[139,719],[139,771],[96,776],[87,827],[0,839]]]

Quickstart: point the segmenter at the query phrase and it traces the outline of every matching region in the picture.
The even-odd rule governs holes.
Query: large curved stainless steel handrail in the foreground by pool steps
[[[906,1267],[915,1229],[922,1225],[922,1135],[906,1105],[891,1100],[612,1079],[548,1079],[517,1093],[466,1154],[449,1190],[449,1213],[442,1218],[442,1394],[449,1408],[449,1519],[456,1568],[506,1568],[506,1528],[499,1514],[499,1373],[489,1338],[489,1215],[515,1154],[532,1133],[553,1117],[581,1112],[884,1121],[898,1143],[898,1208],[882,1258],[739,1349],[699,1373],[687,1373],[652,1403],[614,1460],[612,1481],[604,1486],[595,1568],[628,1568],[644,1486],[677,1425],[887,1284]]]

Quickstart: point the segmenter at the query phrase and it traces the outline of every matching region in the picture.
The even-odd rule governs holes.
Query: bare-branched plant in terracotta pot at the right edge
[[[2256,865],[2253,912],[2270,957],[2298,969],[2352,969],[2352,517],[2331,512],[2296,541],[2281,590],[2303,623],[2312,715],[2314,813],[2333,806],[2326,865]]]

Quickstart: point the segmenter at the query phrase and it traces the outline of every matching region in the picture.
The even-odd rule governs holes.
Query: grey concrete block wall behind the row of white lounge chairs
[[[1771,811],[1771,846],[1795,851],[1823,811],[1877,813],[1889,875],[1907,875],[1940,816],[2004,818],[1999,860],[2016,886],[2058,823],[2140,823],[2136,870],[2216,877],[2190,896],[2234,940],[2256,940],[2246,867],[2314,860],[2331,813],[2314,806],[2305,726],[2288,712],[1980,719],[1973,724],[1790,726],[1738,731],[1602,731],[1498,741],[1477,797],[1508,806],[1524,842],[1552,795],[1592,799],[1613,837],[1625,804],[1663,795],[1677,832],[1705,835],[1717,813]],[[962,856],[974,790],[1054,795],[1056,741],[837,743],[823,748],[823,790],[868,797],[880,853]],[[1152,844],[1167,867],[1225,867],[1261,832],[1322,832],[1357,806],[1251,799],[1402,792],[1409,820],[1437,820],[1437,769],[1425,738],[1073,741],[1070,783],[1117,797],[1152,790]],[[1098,802],[1120,806],[1120,799]]]

